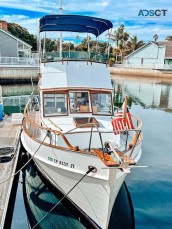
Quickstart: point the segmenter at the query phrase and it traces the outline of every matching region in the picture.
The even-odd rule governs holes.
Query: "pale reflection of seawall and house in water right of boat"
[[[112,76],[112,82],[115,98],[119,97],[117,102],[127,95],[144,108],[172,111],[172,81],[170,80],[115,75]]]

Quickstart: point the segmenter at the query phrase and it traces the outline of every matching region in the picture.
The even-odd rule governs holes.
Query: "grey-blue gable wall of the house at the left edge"
[[[0,56],[17,57],[17,40],[0,30]]]

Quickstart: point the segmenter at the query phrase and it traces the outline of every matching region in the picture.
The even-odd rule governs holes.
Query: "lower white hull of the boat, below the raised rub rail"
[[[66,194],[81,179],[77,173],[66,172],[35,160],[41,173],[61,192]],[[110,214],[106,217],[110,203],[114,204],[125,175],[114,181],[110,188],[108,181],[85,177],[67,196],[90,219],[97,228],[108,228]],[[112,190],[113,189],[113,190]],[[111,193],[111,194],[110,194]],[[112,206],[113,206],[112,204]]]

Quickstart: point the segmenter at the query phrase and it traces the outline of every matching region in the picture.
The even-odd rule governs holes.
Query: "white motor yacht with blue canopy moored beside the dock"
[[[40,33],[71,31],[99,37],[109,20],[46,15]],[[108,228],[126,176],[141,157],[142,122],[113,105],[108,55],[43,52],[39,97],[32,94],[22,122],[21,142],[38,170],[94,228]],[[132,170],[133,171],[133,170]],[[45,220],[45,219],[44,219]]]

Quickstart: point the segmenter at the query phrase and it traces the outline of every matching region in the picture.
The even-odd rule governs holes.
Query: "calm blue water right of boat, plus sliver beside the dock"
[[[131,113],[143,121],[143,153],[139,164],[148,168],[135,168],[126,179],[134,207],[135,227],[171,229],[172,80],[113,76],[112,81],[115,103],[129,96]],[[20,86],[20,90],[24,87]],[[12,228],[27,227],[24,210],[20,210],[23,205],[21,190],[20,185]]]

